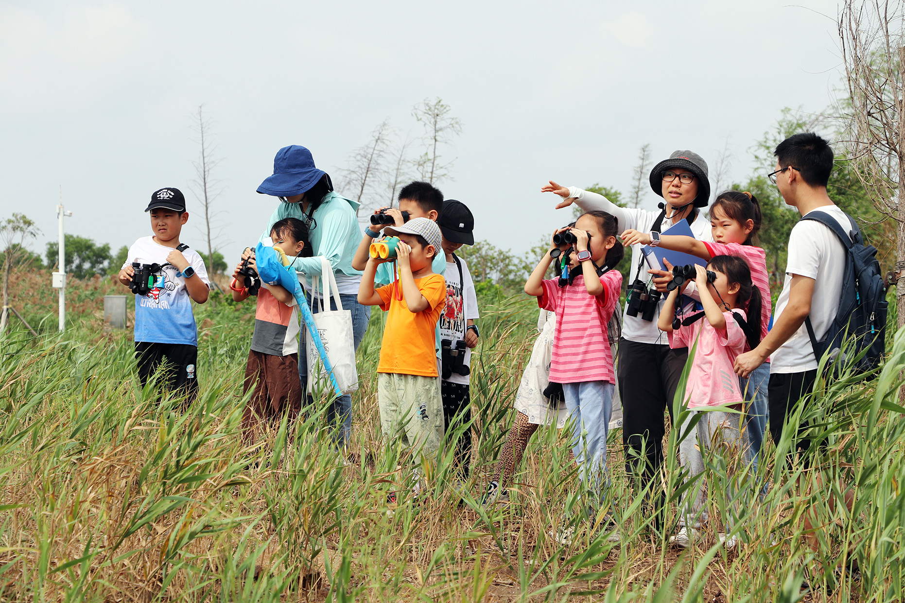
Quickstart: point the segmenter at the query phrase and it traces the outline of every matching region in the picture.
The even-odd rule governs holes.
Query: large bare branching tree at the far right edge
[[[896,221],[896,302],[905,324],[905,43],[901,0],[845,0],[839,15],[849,158],[873,204]]]

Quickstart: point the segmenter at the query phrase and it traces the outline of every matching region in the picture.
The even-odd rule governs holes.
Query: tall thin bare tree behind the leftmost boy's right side
[[[214,211],[214,201],[221,193],[224,187],[222,181],[213,177],[214,168],[220,165],[223,158],[216,158],[214,153],[217,145],[214,143],[214,122],[210,118],[205,119],[205,105],[198,105],[198,110],[192,115],[192,131],[195,132],[195,142],[201,147],[198,151],[198,158],[192,161],[195,168],[195,179],[192,180],[192,192],[195,198],[201,202],[202,215],[205,218],[205,225],[202,227],[207,239],[207,259],[208,268],[211,274],[214,273],[214,241],[220,238],[223,226],[216,221],[219,211]],[[220,286],[211,282],[217,290]]]

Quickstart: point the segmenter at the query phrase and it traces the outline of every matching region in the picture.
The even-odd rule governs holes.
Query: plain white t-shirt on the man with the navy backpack
[[[813,211],[832,215],[846,233],[852,230],[848,216],[837,206],[818,207]],[[773,324],[779,321],[788,305],[792,275],[806,276],[816,281],[810,317],[814,336],[818,341],[823,340],[839,310],[844,268],[845,247],[833,231],[814,220],[797,223],[789,235],[786,281],[776,301]],[[814,348],[804,324],[773,352],[770,363],[771,373],[800,373],[816,368],[817,359],[814,358]]]

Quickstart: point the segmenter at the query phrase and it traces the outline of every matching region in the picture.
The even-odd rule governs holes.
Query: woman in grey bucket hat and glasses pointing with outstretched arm
[[[616,206],[605,196],[577,187],[561,187],[552,180],[540,190],[563,197],[557,208],[576,203],[586,212],[603,210],[614,215],[620,232],[630,228],[643,233],[662,232],[681,220],[687,220],[695,238],[713,240],[710,221],[699,209],[706,207],[710,198],[707,162],[700,155],[690,150],[673,152],[669,158],[654,166],[650,182],[653,192],[663,197],[660,209],[655,211]],[[627,280],[629,287],[637,280],[652,292],[654,288],[665,292],[666,283],[672,275],[640,265],[643,262],[641,247],[640,244],[632,245],[631,273]],[[629,307],[625,304],[622,338],[617,352],[616,380],[623,405],[625,470],[637,480],[639,488],[653,479],[662,463],[662,438],[665,433],[663,408],[668,408],[672,417],[672,399],[688,358],[688,349],[670,349],[666,333],[657,328],[662,303],[661,299],[653,321],[644,321],[642,312],[629,316]],[[652,493],[658,490],[656,488]],[[656,497],[662,502],[662,491]]]

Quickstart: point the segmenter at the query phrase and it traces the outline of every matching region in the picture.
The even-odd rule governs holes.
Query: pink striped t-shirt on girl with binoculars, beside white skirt
[[[601,275],[600,282],[604,292],[596,297],[587,294],[584,274],[565,287],[560,287],[557,279],[543,282],[538,305],[557,314],[550,361],[554,383],[616,382],[606,323],[619,300],[622,274],[611,270]]]

